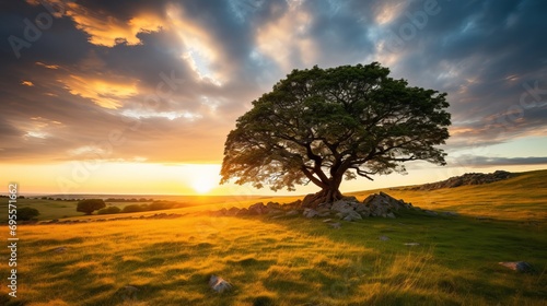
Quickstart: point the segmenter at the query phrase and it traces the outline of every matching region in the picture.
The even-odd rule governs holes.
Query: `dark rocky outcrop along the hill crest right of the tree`
[[[512,177],[512,174],[504,170],[497,170],[494,173],[466,173],[462,176],[454,176],[446,180],[424,184],[420,186],[409,187],[409,190],[435,190],[442,188],[455,188],[467,185],[482,185],[490,184]]]

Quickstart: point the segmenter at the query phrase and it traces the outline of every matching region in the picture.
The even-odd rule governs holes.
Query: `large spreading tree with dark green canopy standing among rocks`
[[[451,125],[445,93],[409,86],[377,62],[293,70],[253,102],[225,141],[221,183],[268,185],[310,181],[321,188],[304,205],[340,199],[342,178],[393,172],[404,163],[445,165]]]

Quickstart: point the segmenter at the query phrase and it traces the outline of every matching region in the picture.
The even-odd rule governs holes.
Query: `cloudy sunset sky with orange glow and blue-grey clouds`
[[[271,195],[218,186],[237,117],[293,69],[373,61],[447,93],[449,165],[342,191],[547,168],[546,14],[540,0],[1,1],[0,191]]]

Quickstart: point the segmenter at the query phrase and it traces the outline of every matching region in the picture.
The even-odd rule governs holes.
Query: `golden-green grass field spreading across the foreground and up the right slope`
[[[481,186],[386,189],[461,216],[407,211],[339,229],[301,216],[212,217],[200,213],[214,207],[209,202],[166,211],[186,214],[171,220],[24,225],[19,297],[10,298],[2,283],[0,305],[545,305],[546,179],[542,170]],[[5,248],[0,257],[5,282]],[[498,264],[517,260],[537,273]],[[212,292],[211,274],[234,290]]]

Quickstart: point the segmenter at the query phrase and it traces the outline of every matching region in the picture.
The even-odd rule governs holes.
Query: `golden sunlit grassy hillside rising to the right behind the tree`
[[[485,180],[482,184],[467,181],[478,175],[463,175],[467,185],[450,188],[445,181],[420,186],[401,186],[375,190],[351,192],[363,200],[374,192],[386,192],[396,199],[411,202],[414,205],[430,210],[456,211],[465,215],[489,216],[500,220],[547,222],[547,169],[524,173],[511,173],[509,178],[498,181]],[[462,178],[463,179],[463,178]],[[488,181],[488,183],[487,183]],[[427,189],[424,186],[441,187]]]

